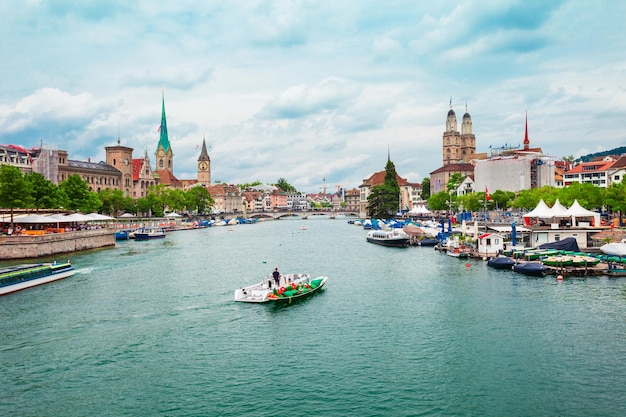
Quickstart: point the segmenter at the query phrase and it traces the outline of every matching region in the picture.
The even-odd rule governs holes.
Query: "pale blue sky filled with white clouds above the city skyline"
[[[154,166],[165,97],[174,174],[307,193],[441,167],[450,104],[476,151],[562,158],[626,145],[626,2],[4,0],[0,144]]]

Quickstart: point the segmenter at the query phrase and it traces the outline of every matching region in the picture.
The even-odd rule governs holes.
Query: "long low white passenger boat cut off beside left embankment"
[[[74,275],[74,267],[65,263],[23,264],[0,269],[0,295],[23,290]]]

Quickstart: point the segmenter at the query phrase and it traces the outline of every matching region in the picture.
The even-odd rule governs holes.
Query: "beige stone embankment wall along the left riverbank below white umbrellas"
[[[0,237],[0,260],[47,257],[115,246],[111,229],[78,230],[38,236]]]

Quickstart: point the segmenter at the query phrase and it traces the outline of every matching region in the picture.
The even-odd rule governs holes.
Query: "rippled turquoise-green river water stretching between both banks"
[[[0,298],[0,415],[626,415],[624,279],[385,248],[340,219],[69,258],[73,277]],[[233,301],[274,267],[330,279]]]

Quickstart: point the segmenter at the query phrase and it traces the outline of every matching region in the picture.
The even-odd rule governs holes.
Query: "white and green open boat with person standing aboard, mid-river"
[[[321,289],[328,277],[311,279],[308,274],[287,274],[281,276],[276,285],[269,276],[258,284],[235,290],[235,301],[244,303],[267,303],[289,301],[307,297]]]

